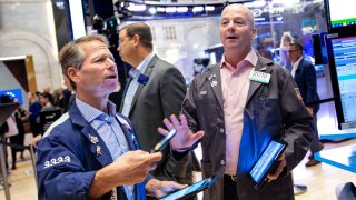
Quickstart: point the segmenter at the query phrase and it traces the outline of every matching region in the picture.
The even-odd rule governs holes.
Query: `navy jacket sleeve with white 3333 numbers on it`
[[[88,199],[96,171],[85,171],[75,150],[59,136],[53,129],[38,146],[39,199]]]

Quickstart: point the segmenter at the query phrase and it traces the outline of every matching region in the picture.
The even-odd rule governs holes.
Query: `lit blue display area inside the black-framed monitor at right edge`
[[[332,39],[340,104],[342,129],[356,127],[356,37]]]

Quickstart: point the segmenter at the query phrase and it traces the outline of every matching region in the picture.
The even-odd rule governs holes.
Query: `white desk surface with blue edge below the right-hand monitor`
[[[356,144],[323,150],[314,154],[318,161],[356,173]]]

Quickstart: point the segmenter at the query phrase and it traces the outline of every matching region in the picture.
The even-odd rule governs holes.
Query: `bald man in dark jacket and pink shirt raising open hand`
[[[221,177],[204,199],[294,199],[290,172],[309,149],[313,118],[293,77],[251,48],[256,36],[253,12],[227,6],[220,21],[222,60],[194,79],[180,121],[174,116],[172,123],[165,120],[167,128],[178,130],[170,141],[176,151],[188,151],[204,136],[202,177]],[[249,171],[271,140],[284,140],[288,147],[265,189],[257,191]]]

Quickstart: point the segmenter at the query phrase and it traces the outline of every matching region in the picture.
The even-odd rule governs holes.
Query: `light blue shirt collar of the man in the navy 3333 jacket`
[[[83,118],[90,123],[92,120],[98,118],[101,114],[107,114],[103,113],[101,110],[98,110],[90,104],[81,101],[78,97],[76,97],[76,104],[83,116]],[[110,117],[113,117],[116,114],[116,106],[109,100],[108,101],[108,112]]]

